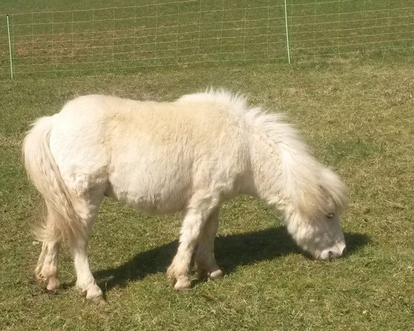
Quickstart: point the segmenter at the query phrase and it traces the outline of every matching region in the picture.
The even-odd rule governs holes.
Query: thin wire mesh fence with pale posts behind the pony
[[[1,14],[0,31],[3,78],[11,72],[22,77],[221,61],[413,55],[414,3],[164,1]]]

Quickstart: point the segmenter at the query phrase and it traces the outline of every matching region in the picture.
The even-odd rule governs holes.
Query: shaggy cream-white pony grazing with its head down
[[[174,102],[79,97],[34,123],[23,154],[48,210],[37,230],[43,246],[35,270],[48,290],[59,288],[59,245],[68,239],[77,288],[104,302],[86,254],[104,196],[149,212],[184,212],[167,270],[177,290],[190,288],[193,254],[201,277],[222,276],[213,252],[219,208],[237,194],[282,210],[288,232],[313,257],[328,260],[345,250],[342,181],[311,157],[280,115],[227,92]]]

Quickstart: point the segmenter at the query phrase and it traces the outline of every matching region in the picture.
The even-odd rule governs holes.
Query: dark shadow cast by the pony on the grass
[[[345,233],[345,240],[348,255],[369,242],[368,236],[357,233]],[[108,291],[111,288],[124,287],[128,282],[142,279],[149,274],[166,272],[177,251],[177,245],[177,241],[172,241],[152,250],[139,252],[123,265],[95,272],[95,279],[103,291]],[[282,226],[219,236],[215,239],[217,263],[227,274],[240,265],[272,260],[292,253],[302,252]]]

